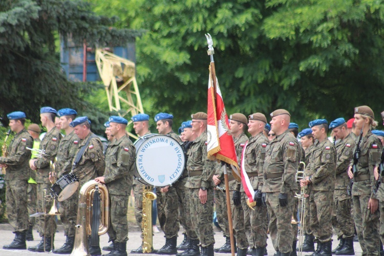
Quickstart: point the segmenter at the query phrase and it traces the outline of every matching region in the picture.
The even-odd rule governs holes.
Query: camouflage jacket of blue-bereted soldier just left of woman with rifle
[[[336,144],[337,151],[337,167],[336,167],[336,181],[335,189],[345,189],[347,193],[347,186],[349,185],[348,168],[351,160],[353,159],[353,148],[356,142],[350,135],[340,140]]]

